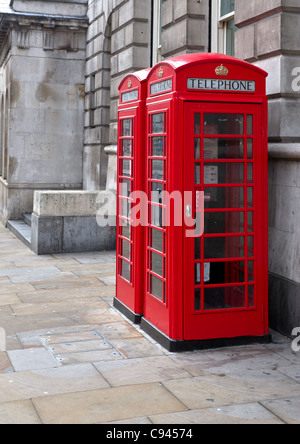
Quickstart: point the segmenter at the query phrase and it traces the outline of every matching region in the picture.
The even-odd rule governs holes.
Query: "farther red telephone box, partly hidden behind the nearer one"
[[[145,189],[145,101],[150,69],[127,75],[119,86],[117,273],[114,306],[133,322],[143,314],[144,230],[131,215],[133,193]]]

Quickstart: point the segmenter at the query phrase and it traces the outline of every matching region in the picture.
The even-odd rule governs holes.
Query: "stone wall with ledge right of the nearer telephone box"
[[[236,0],[236,25],[236,56],[269,73],[270,322],[291,335],[300,325],[299,1]]]

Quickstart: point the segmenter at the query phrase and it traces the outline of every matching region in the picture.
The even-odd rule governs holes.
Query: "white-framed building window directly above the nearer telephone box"
[[[235,0],[212,0],[212,52],[234,56]]]

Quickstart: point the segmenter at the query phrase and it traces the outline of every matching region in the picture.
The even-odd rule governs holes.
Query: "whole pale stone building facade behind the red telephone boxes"
[[[90,193],[116,188],[118,85],[129,72],[206,51],[268,71],[270,314],[290,335],[300,325],[299,0],[8,3],[0,1],[4,223],[32,210],[49,223],[51,211],[38,209],[47,192],[57,203],[51,190],[82,205],[83,194],[91,202]],[[43,190],[36,209],[34,190]],[[78,222],[82,212],[68,210]],[[66,217],[64,205],[54,213]]]

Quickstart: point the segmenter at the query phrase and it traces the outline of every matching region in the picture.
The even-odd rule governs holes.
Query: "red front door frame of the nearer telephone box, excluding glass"
[[[261,106],[260,105],[236,105],[236,104],[210,104],[210,103],[187,103],[185,105],[185,127],[187,131],[187,147],[185,156],[185,188],[195,189],[194,177],[188,172],[191,169],[191,164],[194,162],[194,135],[193,135],[193,115],[194,113],[203,114],[209,113],[239,113],[244,116],[244,122],[247,121],[248,115],[254,117],[254,132],[253,135],[247,135],[246,127],[244,128],[243,135],[203,135],[203,132],[199,134],[201,138],[201,146],[203,147],[203,141],[205,138],[243,140],[244,155],[243,158],[236,159],[204,159],[203,152],[201,159],[197,163],[201,166],[201,177],[205,178],[204,168],[208,165],[215,165],[217,163],[220,168],[225,167],[229,170],[226,175],[228,183],[216,183],[205,185],[203,179],[201,183],[197,185],[197,189],[205,191],[206,188],[225,191],[225,201],[227,207],[218,209],[206,209],[205,214],[217,215],[225,212],[225,224],[227,225],[227,233],[219,232],[207,234],[206,232],[200,239],[201,243],[201,257],[196,261],[201,266],[201,275],[204,276],[204,264],[222,265],[225,263],[225,276],[224,283],[218,284],[205,284],[202,280],[199,285],[195,286],[195,277],[193,275],[194,267],[191,267],[191,262],[195,257],[195,242],[194,239],[186,238],[185,243],[185,264],[184,271],[184,289],[189,295],[195,293],[195,289],[199,289],[201,293],[200,307],[195,309],[195,303],[193,297],[185,298],[185,323],[184,323],[184,338],[187,340],[195,339],[214,339],[220,337],[238,337],[238,336],[262,336],[266,334],[265,323],[267,320],[267,306],[265,305],[264,295],[267,289],[266,273],[264,278],[259,279],[259,272],[264,267],[267,270],[267,264],[262,264],[261,259],[264,257],[264,242],[266,235],[266,225],[262,224],[264,217],[264,206],[259,201],[259,195],[264,190],[265,184],[265,170],[261,168],[264,162],[264,154],[261,142]],[[201,119],[203,125],[203,119]],[[245,123],[246,125],[246,123]],[[254,143],[254,156],[248,159],[247,157],[247,141],[253,140]],[[235,176],[236,168],[238,167],[238,176]],[[242,166],[242,169],[240,168]],[[248,168],[253,167],[254,171],[248,175],[248,171],[252,171]],[[240,173],[243,173],[244,177],[240,177]],[[253,176],[253,177],[252,177]],[[226,182],[225,180],[225,182]],[[248,202],[248,188],[253,188],[254,201],[253,205],[247,205]],[[243,190],[241,201],[236,201],[236,205],[228,206],[229,199],[232,199],[232,194],[241,194],[240,190]],[[194,208],[195,211],[195,208]],[[253,213],[254,221],[253,228],[249,232],[248,226],[248,213]],[[231,223],[232,215],[243,215],[243,229],[240,226],[236,226],[236,220],[234,220],[234,226],[236,228],[228,229],[228,225]],[[233,217],[234,217],[233,216]],[[242,231],[241,231],[242,229]],[[226,230],[225,230],[226,231]],[[254,252],[250,247],[248,239],[253,242],[254,238]],[[207,252],[205,251],[205,243],[211,240],[225,240],[225,254],[220,254],[219,258],[206,258]],[[254,263],[254,280],[251,276],[248,276],[248,263],[250,262],[251,268]],[[239,264],[239,265],[237,265]],[[243,264],[243,267],[241,267]],[[237,279],[236,273],[243,272],[244,278]],[[233,274],[233,276],[232,276]],[[255,288],[254,292],[254,306],[249,301],[250,292],[248,289]],[[211,289],[224,290],[225,292],[225,305],[231,306],[222,309],[207,309],[205,308],[204,292]],[[233,292],[232,290],[235,289]],[[243,293],[243,290],[245,292]]]

